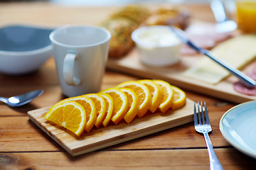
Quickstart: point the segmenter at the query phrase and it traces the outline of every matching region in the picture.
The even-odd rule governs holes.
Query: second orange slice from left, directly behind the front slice
[[[64,100],[59,101],[58,103],[63,103],[66,101],[76,101],[85,108],[85,112],[86,112],[85,131],[90,132],[90,130],[92,130],[93,125],[95,125],[95,121],[97,118],[95,103],[92,101],[92,99],[85,96],[76,96],[76,97],[65,98]]]

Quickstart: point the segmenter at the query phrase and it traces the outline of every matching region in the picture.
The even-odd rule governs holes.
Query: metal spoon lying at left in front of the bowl
[[[12,96],[10,98],[0,97],[0,101],[6,103],[8,106],[18,107],[31,102],[34,98],[40,96],[41,94],[43,94],[43,90],[35,90],[35,91],[30,91],[26,94]]]

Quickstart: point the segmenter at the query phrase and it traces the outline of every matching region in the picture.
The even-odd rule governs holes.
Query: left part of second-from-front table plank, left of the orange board
[[[0,118],[0,152],[31,152],[62,150],[41,132],[27,116]],[[1,168],[0,168],[1,169]]]

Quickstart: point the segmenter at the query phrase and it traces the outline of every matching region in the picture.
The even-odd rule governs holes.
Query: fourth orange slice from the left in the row
[[[114,102],[113,102],[113,98],[109,94],[100,93],[100,95],[105,99],[106,111],[107,111],[107,114],[105,116],[105,119],[102,122],[102,125],[107,127],[113,115]]]

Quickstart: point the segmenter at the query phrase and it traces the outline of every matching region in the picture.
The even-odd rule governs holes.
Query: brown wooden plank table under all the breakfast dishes
[[[209,6],[182,6],[194,18],[213,21]],[[0,26],[27,23],[36,26],[97,24],[115,7],[66,7],[48,2],[0,4]],[[152,7],[153,8],[153,7]],[[102,89],[123,81],[137,80],[107,70]],[[37,72],[23,76],[0,74],[0,96],[14,96],[34,89],[44,94],[26,106],[9,108],[0,104],[0,169],[209,169],[208,152],[193,123],[154,135],[124,142],[79,157],[70,154],[28,120],[27,112],[51,106],[64,98],[58,84],[53,57]],[[235,103],[186,91],[193,101],[206,101],[213,132],[210,139],[224,169],[256,169],[256,161],[226,142],[219,130],[220,118]]]

